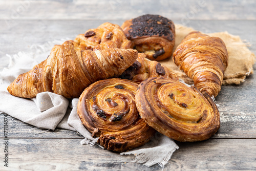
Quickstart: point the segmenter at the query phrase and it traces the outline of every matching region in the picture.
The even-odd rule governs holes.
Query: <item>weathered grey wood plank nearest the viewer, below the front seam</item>
[[[80,145],[77,139],[9,139],[10,170],[161,170],[128,162],[134,156],[120,156],[97,146]],[[180,148],[164,170],[254,170],[255,139],[210,139],[178,143]],[[1,151],[1,153],[3,153]],[[3,165],[0,166],[3,168]]]

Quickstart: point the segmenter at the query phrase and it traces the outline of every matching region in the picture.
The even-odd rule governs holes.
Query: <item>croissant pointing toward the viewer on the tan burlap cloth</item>
[[[200,92],[216,97],[228,65],[228,53],[222,39],[200,32],[189,33],[174,52],[173,60]]]

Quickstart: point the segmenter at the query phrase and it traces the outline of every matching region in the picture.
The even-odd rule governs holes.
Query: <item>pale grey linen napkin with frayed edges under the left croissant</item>
[[[76,131],[84,137],[81,141],[82,145],[97,144],[98,138],[92,137],[77,115],[78,98],[68,100],[51,92],[43,92],[37,94],[36,98],[25,99],[12,96],[7,92],[9,84],[19,74],[31,70],[34,65],[44,60],[51,50],[49,47],[52,46],[49,45],[54,45],[56,42],[58,41],[48,42],[45,47],[38,46],[39,50],[35,48],[29,53],[19,52],[14,56],[8,55],[10,57],[9,68],[0,72],[0,113],[6,113],[42,129],[55,130],[58,127]],[[178,148],[172,139],[157,133],[147,144],[133,151],[121,153],[121,155],[134,154],[136,157],[132,162],[143,163],[146,166],[157,163],[164,166]]]

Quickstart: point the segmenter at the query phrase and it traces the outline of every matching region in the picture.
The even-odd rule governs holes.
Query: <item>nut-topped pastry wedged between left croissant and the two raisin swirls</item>
[[[177,79],[178,76],[161,63],[149,60],[144,53],[138,53],[133,65],[127,68],[119,78],[141,82],[149,77],[167,77]]]

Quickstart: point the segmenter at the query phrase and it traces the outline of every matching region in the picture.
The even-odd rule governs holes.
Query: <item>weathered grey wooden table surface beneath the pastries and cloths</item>
[[[228,31],[252,45],[256,53],[256,3],[245,1],[0,1],[0,71],[8,66],[5,54],[30,51],[32,44],[69,37],[104,22],[121,25],[142,14],[160,14],[177,24],[211,33]],[[241,56],[243,57],[243,56]],[[254,65],[255,69],[255,65]],[[221,128],[206,141],[177,144],[180,148],[164,170],[256,169],[256,77],[240,86],[223,86],[217,96]],[[9,127],[9,163],[4,167],[4,118]],[[161,170],[127,162],[97,146],[80,145],[76,132],[37,129],[5,114],[0,115],[0,170]]]

